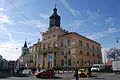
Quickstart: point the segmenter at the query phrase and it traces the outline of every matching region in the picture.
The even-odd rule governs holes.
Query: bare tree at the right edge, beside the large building
[[[108,51],[105,51],[108,60],[120,60],[120,49],[110,48]]]

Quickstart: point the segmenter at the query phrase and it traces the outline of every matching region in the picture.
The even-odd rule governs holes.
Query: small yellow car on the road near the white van
[[[78,76],[80,76],[80,77],[90,77],[90,76],[92,76],[92,73],[87,68],[86,69],[79,69],[78,70]]]

